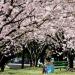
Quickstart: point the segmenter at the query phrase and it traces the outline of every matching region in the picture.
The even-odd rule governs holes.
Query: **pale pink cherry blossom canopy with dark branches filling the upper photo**
[[[71,42],[68,45],[74,47],[74,5],[74,0],[1,0],[0,51],[10,44],[20,47],[26,39],[44,41],[46,35],[55,36],[58,29],[63,29]]]

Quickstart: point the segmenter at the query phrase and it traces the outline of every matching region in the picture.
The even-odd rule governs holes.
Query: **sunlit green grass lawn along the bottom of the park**
[[[25,68],[25,69],[5,69],[4,72],[0,72],[0,75],[46,75],[42,74],[41,68]],[[70,72],[62,69],[61,71],[55,70],[54,73],[48,75],[75,75],[75,72]]]

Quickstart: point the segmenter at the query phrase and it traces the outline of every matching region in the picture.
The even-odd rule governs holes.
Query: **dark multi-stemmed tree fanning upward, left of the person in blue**
[[[28,40],[26,48],[23,47],[23,49],[26,49],[25,52],[28,53],[30,65],[37,67],[38,59],[40,59],[41,53],[46,50],[45,42],[39,41],[37,39]]]

